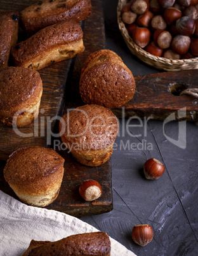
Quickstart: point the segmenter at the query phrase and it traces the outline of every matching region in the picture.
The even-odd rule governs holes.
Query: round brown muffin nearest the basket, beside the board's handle
[[[135,94],[135,80],[122,59],[111,50],[91,53],[80,78],[80,94],[86,104],[120,108]]]

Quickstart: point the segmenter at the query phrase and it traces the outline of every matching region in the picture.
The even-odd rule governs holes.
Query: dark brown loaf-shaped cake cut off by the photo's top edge
[[[20,12],[20,18],[30,35],[58,22],[80,22],[88,18],[91,11],[90,0],[44,0],[25,8]]]

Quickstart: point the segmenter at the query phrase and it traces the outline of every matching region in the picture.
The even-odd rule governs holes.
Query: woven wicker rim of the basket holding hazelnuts
[[[126,42],[131,53],[136,55],[140,60],[153,66],[157,69],[163,69],[166,71],[178,71],[184,69],[198,69],[198,57],[193,59],[182,59],[182,60],[170,60],[163,57],[156,57],[143,50],[140,46],[136,45],[133,39],[129,36],[128,30],[125,27],[124,22],[121,19],[121,9],[124,4],[128,3],[127,0],[119,0],[117,4],[117,22],[119,30]]]

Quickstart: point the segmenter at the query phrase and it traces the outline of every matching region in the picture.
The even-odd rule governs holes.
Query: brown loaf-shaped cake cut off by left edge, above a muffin
[[[8,67],[11,47],[18,39],[17,11],[0,12],[0,69]]]

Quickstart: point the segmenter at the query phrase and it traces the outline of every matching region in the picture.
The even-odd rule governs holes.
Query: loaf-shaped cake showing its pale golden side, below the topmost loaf
[[[84,51],[81,26],[61,22],[41,29],[11,49],[14,66],[39,70]]]

